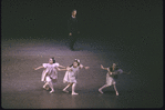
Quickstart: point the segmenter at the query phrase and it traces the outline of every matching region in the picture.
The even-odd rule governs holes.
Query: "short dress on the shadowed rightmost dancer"
[[[123,70],[118,69],[118,70],[112,72],[112,74],[110,74],[110,72],[111,72],[110,69],[107,68],[107,73],[106,73],[106,84],[107,86],[115,84],[116,82],[113,78],[113,74],[121,74],[121,73],[123,73]]]

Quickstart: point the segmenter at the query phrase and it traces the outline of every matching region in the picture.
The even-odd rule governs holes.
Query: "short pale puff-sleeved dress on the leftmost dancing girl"
[[[55,83],[58,81],[58,70],[56,70],[56,68],[59,67],[59,63],[52,63],[52,64],[43,63],[42,66],[45,69],[42,72],[41,81],[44,81],[44,82],[52,81],[52,82]]]

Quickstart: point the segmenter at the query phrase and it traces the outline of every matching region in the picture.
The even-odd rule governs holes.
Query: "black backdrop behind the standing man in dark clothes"
[[[73,9],[78,10],[83,37],[122,36],[133,41],[162,34],[162,0],[2,0],[2,38],[64,37]]]

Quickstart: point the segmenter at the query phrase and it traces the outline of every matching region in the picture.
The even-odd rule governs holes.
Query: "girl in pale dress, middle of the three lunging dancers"
[[[79,70],[82,68],[89,69],[90,67],[83,67],[82,64],[80,64],[79,59],[75,59],[73,64],[68,67],[68,71],[65,72],[65,76],[63,78],[63,83],[68,82],[69,84],[63,89],[64,92],[69,92],[66,89],[72,86],[72,94],[79,94],[74,91],[74,89],[76,84]]]

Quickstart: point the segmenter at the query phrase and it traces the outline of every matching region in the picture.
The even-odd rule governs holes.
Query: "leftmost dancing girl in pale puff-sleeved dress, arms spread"
[[[34,70],[45,68],[42,72],[41,81],[45,82],[45,84],[43,86],[43,89],[49,90],[47,86],[51,88],[50,93],[54,92],[53,84],[56,83],[58,81],[58,70],[62,71],[62,69],[59,69],[59,67],[65,68],[63,66],[60,66],[59,63],[55,63],[54,58],[50,58],[49,63],[43,63],[41,67],[34,68]],[[66,70],[66,69],[63,69],[63,70]]]

